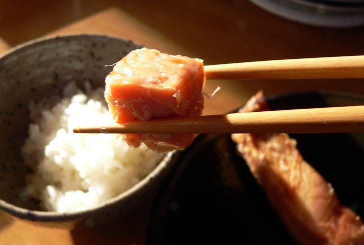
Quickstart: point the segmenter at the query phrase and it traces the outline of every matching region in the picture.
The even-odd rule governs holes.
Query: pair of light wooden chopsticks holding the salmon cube
[[[207,65],[207,79],[364,78],[364,55]],[[233,113],[77,127],[75,133],[364,132],[364,106]]]

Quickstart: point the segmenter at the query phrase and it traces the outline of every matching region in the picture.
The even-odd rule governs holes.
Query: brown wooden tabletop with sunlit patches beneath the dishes
[[[295,23],[247,0],[2,0],[0,52],[44,35],[103,33],[161,51],[199,57],[205,64],[364,54],[364,28],[329,29]],[[205,114],[225,113],[257,90],[364,94],[364,80],[209,80]],[[153,195],[122,221],[91,230],[64,231],[11,221],[0,213],[0,244],[97,245],[145,243]]]

